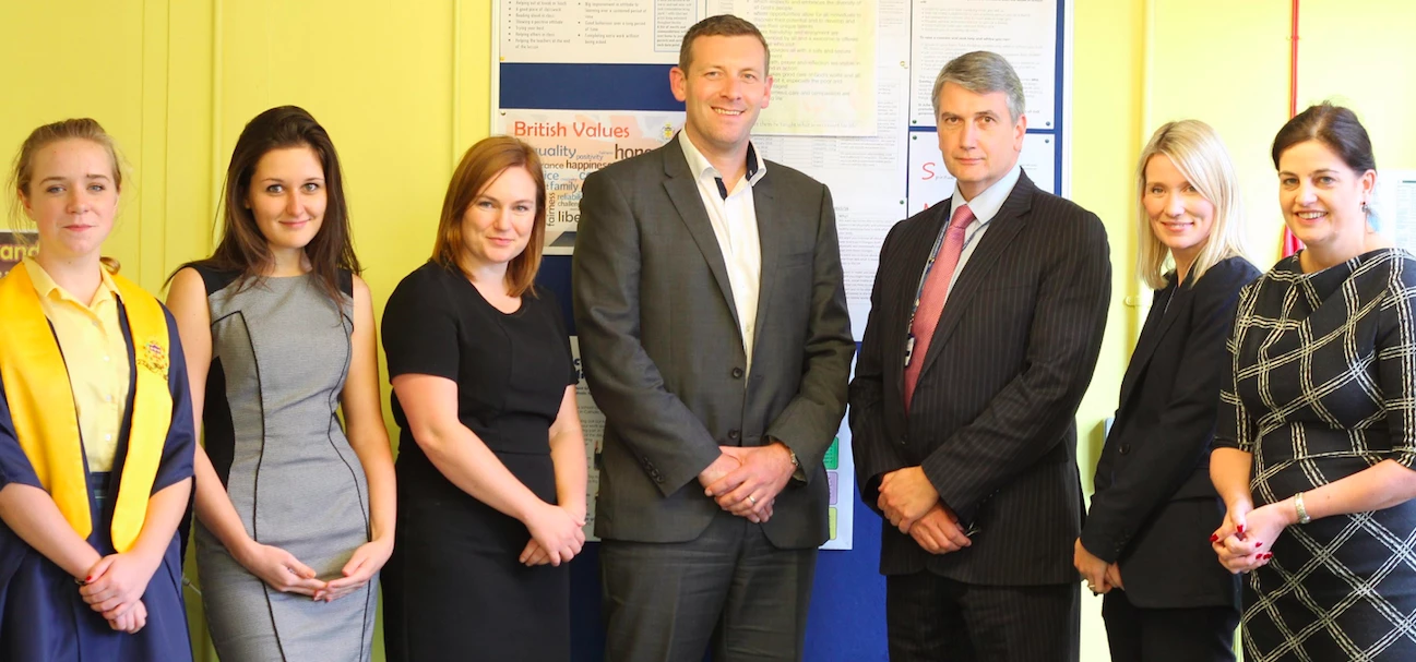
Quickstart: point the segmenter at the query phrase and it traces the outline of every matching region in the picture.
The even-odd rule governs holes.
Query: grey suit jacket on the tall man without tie
[[[585,180],[575,323],[605,450],[595,533],[695,539],[721,512],[698,474],[719,446],[780,439],[793,480],[763,525],[779,547],[826,542],[823,457],[845,412],[851,339],[831,194],[769,163],[753,188],[762,243],[752,372],[728,273],[678,140]]]

